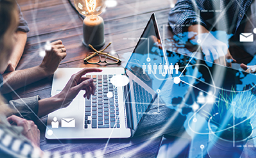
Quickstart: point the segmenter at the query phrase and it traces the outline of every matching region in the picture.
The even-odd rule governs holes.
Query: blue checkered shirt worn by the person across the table
[[[235,34],[251,4],[252,0],[178,0],[169,12],[169,25],[175,34],[199,23],[208,30],[225,28]],[[214,26],[207,22],[212,18]]]

